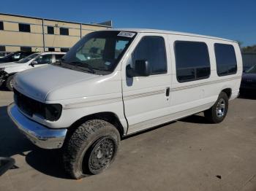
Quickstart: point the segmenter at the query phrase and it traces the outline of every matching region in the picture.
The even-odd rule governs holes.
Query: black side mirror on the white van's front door
[[[148,77],[151,74],[150,66],[146,60],[135,61],[135,68],[127,66],[127,77]]]

